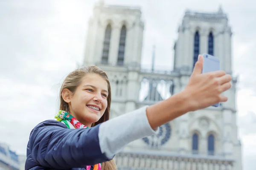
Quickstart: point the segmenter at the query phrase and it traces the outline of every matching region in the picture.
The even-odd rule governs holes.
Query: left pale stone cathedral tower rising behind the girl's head
[[[140,8],[101,1],[88,26],[84,65],[97,65],[108,73],[111,116],[136,109],[144,30]]]

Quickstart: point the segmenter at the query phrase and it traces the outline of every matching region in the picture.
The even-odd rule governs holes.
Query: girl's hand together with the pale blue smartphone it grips
[[[231,88],[231,80],[231,75],[220,70],[218,58],[199,55],[189,82],[180,92],[187,100],[187,111],[217,107],[219,103],[227,102],[227,96],[222,93]]]

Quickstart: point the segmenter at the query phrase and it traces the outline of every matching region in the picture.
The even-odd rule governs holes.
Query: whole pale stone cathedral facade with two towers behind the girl
[[[232,75],[232,32],[221,8],[186,11],[178,27],[173,71],[141,68],[144,23],[136,7],[96,4],[89,20],[84,65],[97,65],[111,82],[111,118],[182,91],[198,54],[219,57]],[[154,56],[153,56],[154,57]],[[189,112],[159,133],[131,142],[115,156],[119,170],[242,170],[236,125],[236,77],[218,108]],[[143,96],[144,94],[144,96]]]

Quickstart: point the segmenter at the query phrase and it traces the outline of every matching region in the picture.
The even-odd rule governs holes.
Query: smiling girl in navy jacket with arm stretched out
[[[129,142],[189,111],[227,101],[221,93],[231,87],[231,76],[201,74],[202,65],[199,56],[184,91],[111,120],[107,74],[95,66],[73,71],[61,86],[57,121],[41,122],[30,133],[25,169],[116,170],[113,157]]]

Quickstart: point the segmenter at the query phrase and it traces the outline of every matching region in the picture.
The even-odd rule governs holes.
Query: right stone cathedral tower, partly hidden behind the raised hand
[[[198,54],[207,53],[218,57],[221,70],[232,75],[231,36],[227,15],[221,7],[215,13],[186,11],[174,46],[174,70],[191,73]],[[186,77],[185,74],[183,77]],[[233,87],[224,92],[228,101],[221,103],[220,107],[209,107],[178,118],[182,153],[192,151],[192,154],[223,155],[235,159],[235,169],[241,169],[241,144],[236,125],[236,82],[236,77],[233,77]]]

